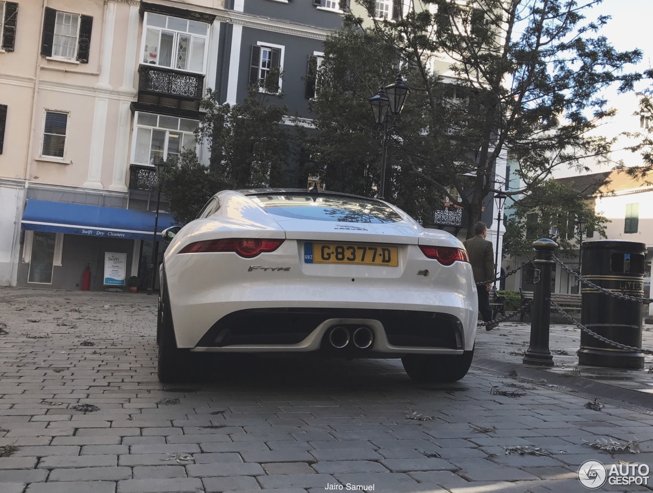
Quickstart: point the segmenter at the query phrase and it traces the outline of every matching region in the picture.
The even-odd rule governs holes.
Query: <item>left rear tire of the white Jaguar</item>
[[[190,351],[177,347],[167,286],[161,287],[161,302],[157,317],[157,342],[159,342],[157,375],[159,381],[161,383],[184,381],[188,377]]]

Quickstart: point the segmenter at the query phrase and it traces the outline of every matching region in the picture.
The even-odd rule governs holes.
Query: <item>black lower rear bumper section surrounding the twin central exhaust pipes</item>
[[[349,334],[343,347],[330,343],[330,332],[335,327]],[[365,347],[355,340],[359,329],[370,339]],[[465,340],[462,323],[448,313],[273,308],[241,310],[222,317],[192,351],[323,351],[343,357],[388,357],[407,353],[461,354]]]

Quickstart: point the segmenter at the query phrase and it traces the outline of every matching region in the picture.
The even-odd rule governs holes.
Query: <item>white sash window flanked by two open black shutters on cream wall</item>
[[[88,63],[93,18],[46,7],[41,54]]]

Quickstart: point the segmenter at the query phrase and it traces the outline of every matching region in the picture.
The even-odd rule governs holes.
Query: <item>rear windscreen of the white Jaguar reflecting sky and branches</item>
[[[392,208],[378,202],[358,197],[338,195],[254,195],[250,196],[272,215],[314,221],[343,223],[396,223],[402,217]]]

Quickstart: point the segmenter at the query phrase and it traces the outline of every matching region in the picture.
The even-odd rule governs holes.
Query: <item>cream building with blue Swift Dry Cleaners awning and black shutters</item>
[[[147,285],[153,165],[196,145],[215,12],[222,1],[0,0],[0,285],[80,289],[87,268],[90,289]]]

